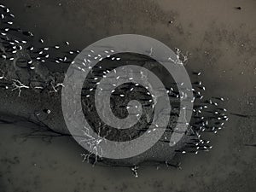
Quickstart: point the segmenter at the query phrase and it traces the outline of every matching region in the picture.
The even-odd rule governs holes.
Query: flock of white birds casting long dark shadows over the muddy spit
[[[73,63],[72,58],[79,54],[79,50],[65,50],[62,48],[67,48],[70,43],[68,41],[63,42],[62,44],[55,44],[53,46],[47,46],[44,42],[43,38],[38,39],[39,47],[32,46],[30,44],[31,39],[34,38],[32,32],[22,31],[19,27],[15,27],[14,18],[9,8],[0,5],[0,13],[1,13],[1,33],[0,33],[0,44],[2,49],[0,50],[1,61],[14,61],[15,55],[17,55],[20,51],[26,51],[30,55],[30,59],[23,61],[26,62],[26,66],[29,70],[34,70],[35,66],[33,65],[35,62],[53,62],[55,64],[62,63]],[[14,38],[20,37],[20,38]],[[22,38],[23,37],[23,38]],[[24,40],[26,39],[26,40]],[[59,54],[62,56],[55,56],[50,54],[51,50],[59,51]],[[152,50],[151,50],[152,51]],[[114,50],[105,50],[105,54],[107,54],[107,58],[114,61],[120,61],[120,57],[112,56],[114,54]],[[73,56],[72,56],[73,55]],[[91,53],[87,55],[90,59],[84,59],[84,67],[88,67],[87,63],[90,63],[91,60],[102,61],[103,57],[100,54],[96,54],[93,50]],[[100,67],[101,68],[101,67]],[[80,70],[84,70],[83,67],[79,68]],[[100,69],[99,69],[100,70]],[[106,73],[110,73],[111,69],[105,70],[102,72],[102,77],[106,77]],[[201,76],[201,72],[194,73],[195,76]],[[4,74],[0,74],[0,80],[5,79]],[[96,77],[93,79],[95,84],[99,84],[97,82],[99,79]],[[117,79],[118,80],[118,79]],[[15,80],[15,89],[21,89],[29,87],[21,84],[20,80]],[[62,84],[63,85],[63,84]],[[113,84],[114,85],[114,84]],[[182,84],[181,84],[182,85]],[[20,88],[20,86],[23,86]],[[64,85],[63,85],[64,86]],[[93,91],[95,89],[90,88],[88,91]],[[224,102],[224,98],[222,97],[212,97],[210,99],[205,99],[202,92],[205,91],[205,86],[201,83],[201,81],[197,81],[193,83],[193,93],[194,98],[191,102],[194,102],[193,110],[193,118],[191,119],[189,126],[191,131],[188,131],[188,134],[192,134],[195,138],[191,139],[189,143],[186,143],[186,147],[182,149],[177,149],[177,153],[186,154],[186,153],[194,153],[198,154],[200,151],[208,151],[212,148],[210,141],[204,140],[201,138],[201,132],[210,131],[215,134],[218,131],[224,128],[224,122],[229,119],[226,114],[227,110],[225,108],[221,108],[221,102]],[[133,91],[133,89],[130,89]],[[113,90],[114,92],[114,90]],[[112,93],[113,93],[112,92]],[[167,94],[170,97],[181,98],[180,94],[175,91],[173,88],[167,91]],[[90,93],[86,95],[90,96]],[[119,95],[124,97],[124,94]],[[147,97],[148,98],[148,97]],[[152,98],[148,98],[148,102],[152,102]],[[163,141],[167,142],[167,141]]]

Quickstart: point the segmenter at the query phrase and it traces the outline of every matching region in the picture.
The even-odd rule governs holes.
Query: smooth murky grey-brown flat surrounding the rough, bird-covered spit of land
[[[137,33],[189,51],[207,96],[227,98],[230,120],[208,153],[177,156],[182,170],[82,163],[70,137],[26,139],[35,127],[0,124],[0,191],[254,191],[256,189],[256,26],[254,1],[3,1],[22,28],[75,49]],[[241,7],[241,9],[236,9]],[[99,19],[100,18],[100,19]],[[235,114],[234,114],[235,113]],[[236,115],[239,114],[239,115]]]

